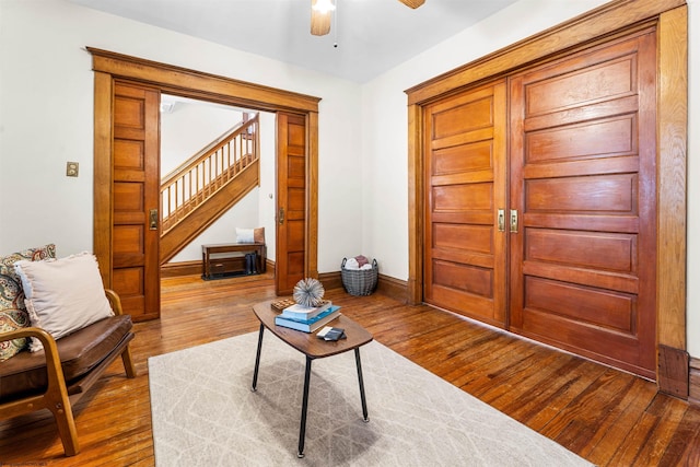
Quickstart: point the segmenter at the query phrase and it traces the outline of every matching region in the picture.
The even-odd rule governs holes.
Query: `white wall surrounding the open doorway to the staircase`
[[[0,0],[0,254],[49,242],[59,256],[92,250],[85,46],[322,97],[318,269],[338,270],[347,252],[361,250],[360,198],[336,179],[361,178],[358,84],[63,0]],[[80,177],[65,176],[67,161],[80,163]],[[273,201],[266,196],[258,202]]]

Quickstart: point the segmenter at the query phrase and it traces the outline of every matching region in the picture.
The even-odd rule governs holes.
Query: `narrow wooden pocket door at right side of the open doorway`
[[[277,115],[276,292],[289,295],[305,273],[306,119]]]

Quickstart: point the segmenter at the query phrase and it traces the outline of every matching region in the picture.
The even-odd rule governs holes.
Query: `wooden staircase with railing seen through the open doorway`
[[[259,186],[256,114],[212,141],[161,180],[161,265]]]

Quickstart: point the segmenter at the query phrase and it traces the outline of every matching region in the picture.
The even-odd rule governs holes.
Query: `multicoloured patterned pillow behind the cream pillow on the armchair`
[[[24,307],[22,280],[14,271],[14,264],[22,259],[38,261],[55,257],[54,244],[0,257],[0,334],[30,326],[30,316]],[[14,357],[25,346],[25,338],[0,342],[0,362]]]

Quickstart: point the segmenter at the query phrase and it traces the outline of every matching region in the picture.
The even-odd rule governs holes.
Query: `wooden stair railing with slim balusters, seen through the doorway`
[[[258,129],[256,114],[161,179],[161,235],[258,159]]]

